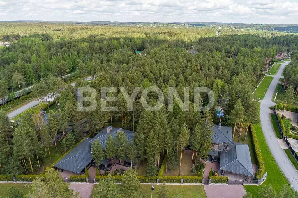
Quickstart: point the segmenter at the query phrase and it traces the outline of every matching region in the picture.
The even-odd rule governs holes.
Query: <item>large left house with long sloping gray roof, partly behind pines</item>
[[[124,130],[122,128],[114,128],[107,127],[97,133],[93,138],[87,137],[80,144],[78,144],[73,150],[67,153],[62,159],[60,159],[54,167],[59,169],[60,171],[67,170],[70,172],[74,172],[76,174],[80,174],[84,171],[85,167],[95,166],[95,163],[92,159],[91,146],[92,143],[97,139],[102,148],[105,149],[106,141],[108,139],[108,135],[111,134],[112,138],[116,138],[117,132],[125,133],[128,140],[134,139],[134,131]],[[129,144],[130,141],[128,141]],[[114,160],[113,160],[114,162]],[[125,164],[131,164],[129,159],[125,159]],[[106,170],[112,166],[111,159],[106,158],[102,163],[102,169]]]

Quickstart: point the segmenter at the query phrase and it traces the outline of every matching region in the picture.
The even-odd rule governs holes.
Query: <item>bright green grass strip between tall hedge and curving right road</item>
[[[262,186],[271,184],[274,190],[278,192],[283,184],[288,184],[288,181],[283,175],[283,173],[280,171],[279,167],[277,166],[266,144],[260,123],[255,124],[254,128],[256,131],[257,138],[259,140],[258,142],[261,150],[261,155],[264,161],[265,170],[268,174]],[[252,194],[253,197],[259,197],[259,193],[263,188],[262,186],[244,186],[244,188],[246,192]]]

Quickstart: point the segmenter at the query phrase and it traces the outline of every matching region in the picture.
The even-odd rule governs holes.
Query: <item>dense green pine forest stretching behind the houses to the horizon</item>
[[[236,128],[236,133],[241,133],[243,123],[258,122],[257,98],[252,92],[263,78],[265,58],[298,48],[298,36],[294,34],[227,30],[216,36],[212,27],[146,29],[3,23],[0,36],[2,42],[10,42],[0,48],[0,98],[5,100],[9,91],[33,85],[33,97],[39,99],[54,93],[53,105],[59,106],[49,111],[48,125],[41,117],[32,117],[31,112],[22,114],[16,125],[5,111],[0,111],[0,173],[4,175],[28,173],[28,169],[38,172],[37,165],[47,161],[52,139],[69,130],[65,123],[76,124],[69,133],[73,137],[66,135],[61,142],[63,153],[80,141],[86,131],[96,134],[116,122],[124,129],[136,131],[137,155],[147,162],[146,174],[150,176],[157,174],[164,150],[168,151],[169,169],[181,166],[178,152],[189,141],[198,151],[198,159],[206,156],[213,123],[220,120],[215,107],[225,111],[221,122]],[[79,77],[76,87],[62,80],[74,72]],[[89,76],[92,80],[84,81]],[[294,80],[286,78],[294,85]],[[129,95],[135,87],[156,86],[164,95],[168,87],[175,87],[182,99],[184,87],[190,87],[190,111],[182,111],[175,101],[173,112],[168,112],[167,100],[159,111],[148,111],[141,105],[140,94],[133,111],[127,111],[126,101],[117,90],[108,93],[117,96],[116,102],[106,102],[100,95],[97,101],[118,106],[118,111],[105,112],[98,107],[92,112],[79,112],[77,106],[81,104],[76,101],[75,89],[80,86],[93,87],[98,93],[101,87],[125,87]],[[215,93],[214,108],[194,111],[193,87],[211,89]],[[201,99],[203,104],[209,100],[207,95],[201,95]],[[153,106],[157,96],[149,94],[147,101]]]

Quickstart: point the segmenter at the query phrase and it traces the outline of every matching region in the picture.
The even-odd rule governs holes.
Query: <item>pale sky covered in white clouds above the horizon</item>
[[[298,0],[0,0],[0,21],[298,23]]]

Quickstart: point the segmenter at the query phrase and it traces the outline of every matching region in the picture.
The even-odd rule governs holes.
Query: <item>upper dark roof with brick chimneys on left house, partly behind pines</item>
[[[117,134],[117,130],[119,128],[114,128],[114,127],[111,127],[111,131],[109,132],[112,136],[112,138],[116,138],[116,134]],[[124,130],[122,129],[122,132],[125,133],[127,139],[128,139],[128,144],[129,144],[129,140],[130,139],[134,139],[134,131],[128,131],[128,130]],[[89,141],[90,144],[92,144],[94,142],[94,140],[98,140],[101,144],[101,147],[103,147],[103,149],[105,149],[105,142],[107,141],[108,139],[108,136],[109,136],[109,133],[107,131],[107,128],[104,128],[103,130],[101,130],[99,133],[97,133],[96,136],[94,136],[94,138],[92,138],[91,141]]]

